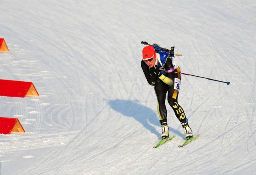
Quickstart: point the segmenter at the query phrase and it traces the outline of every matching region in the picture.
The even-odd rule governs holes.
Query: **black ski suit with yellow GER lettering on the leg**
[[[177,74],[175,72],[180,72],[180,68],[177,65],[174,65],[175,62],[173,61],[172,57],[167,52],[158,52],[157,58],[159,60],[158,66],[159,69],[165,69],[168,71],[172,69],[172,72],[164,74],[166,77],[169,77],[174,82],[172,86],[163,83],[162,80],[157,78],[154,75],[149,73],[149,67],[145,63],[145,61],[141,61],[141,68],[143,69],[144,75],[151,86],[154,86],[155,93],[157,95],[157,111],[160,118],[160,123],[162,126],[167,125],[167,110],[165,105],[166,100],[166,93],[167,100],[169,105],[172,107],[173,111],[175,112],[176,117],[180,120],[181,123],[187,122],[186,115],[182,109],[182,107],[178,104],[178,94],[180,89],[180,81],[181,81],[181,74]],[[161,62],[161,63],[160,63]],[[175,83],[176,81],[176,83]]]

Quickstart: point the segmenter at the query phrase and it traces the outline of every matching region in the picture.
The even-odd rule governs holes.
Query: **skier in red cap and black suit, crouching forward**
[[[153,45],[154,46],[154,45]],[[175,63],[168,52],[155,51],[153,46],[145,46],[143,48],[143,60],[141,68],[144,75],[151,86],[154,86],[157,95],[157,111],[162,126],[161,137],[169,137],[169,127],[167,124],[167,110],[165,105],[166,93],[169,105],[175,112],[176,117],[180,120],[186,139],[192,138],[193,133],[189,127],[188,119],[178,103],[178,94],[180,90],[181,74],[179,66]]]

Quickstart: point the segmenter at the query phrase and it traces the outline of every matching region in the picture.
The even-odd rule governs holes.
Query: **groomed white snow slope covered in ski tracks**
[[[31,81],[40,96],[0,97],[0,116],[26,133],[0,135],[1,175],[255,174],[255,0],[0,0],[0,79]],[[154,87],[141,41],[175,46],[179,103],[172,141],[157,149]]]

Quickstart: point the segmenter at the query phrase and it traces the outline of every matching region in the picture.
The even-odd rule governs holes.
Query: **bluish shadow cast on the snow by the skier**
[[[109,106],[111,106],[112,109],[120,112],[122,115],[125,115],[126,117],[132,117],[135,120],[139,121],[151,133],[161,138],[160,133],[153,126],[151,126],[151,124],[153,124],[157,127],[160,127],[160,123],[158,120],[159,117],[152,109],[131,100],[109,100],[108,104]],[[176,129],[169,127],[169,131],[170,134],[174,133],[183,138],[183,134]]]

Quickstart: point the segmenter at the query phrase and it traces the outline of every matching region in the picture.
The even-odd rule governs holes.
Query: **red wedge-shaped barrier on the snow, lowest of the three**
[[[17,118],[0,117],[0,134],[10,134],[11,132],[25,132]]]

